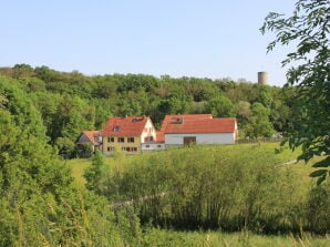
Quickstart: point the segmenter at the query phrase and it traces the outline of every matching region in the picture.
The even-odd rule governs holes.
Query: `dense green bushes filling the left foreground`
[[[107,200],[74,186],[24,92],[0,78],[0,246],[134,245]]]

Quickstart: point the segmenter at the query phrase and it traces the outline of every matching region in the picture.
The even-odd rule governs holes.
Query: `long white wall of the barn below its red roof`
[[[195,137],[197,144],[235,144],[235,133],[165,134],[165,143],[184,145],[185,137]]]

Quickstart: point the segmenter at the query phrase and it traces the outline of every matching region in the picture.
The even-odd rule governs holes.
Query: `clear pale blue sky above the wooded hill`
[[[288,0],[0,0],[0,66],[286,83],[287,48],[267,53],[269,12]]]

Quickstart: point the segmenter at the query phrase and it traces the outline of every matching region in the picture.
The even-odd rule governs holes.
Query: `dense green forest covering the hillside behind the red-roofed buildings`
[[[166,114],[235,116],[241,140],[282,133],[290,121],[295,89],[231,80],[155,78],[145,74],[86,76],[48,66],[0,69],[41,113],[48,143],[74,157],[82,131],[102,130],[111,116],[151,116],[159,127]]]

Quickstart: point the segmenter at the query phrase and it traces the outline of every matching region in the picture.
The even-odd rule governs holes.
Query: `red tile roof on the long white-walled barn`
[[[234,133],[235,127],[235,117],[193,120],[183,115],[179,122],[168,123],[164,133]]]

